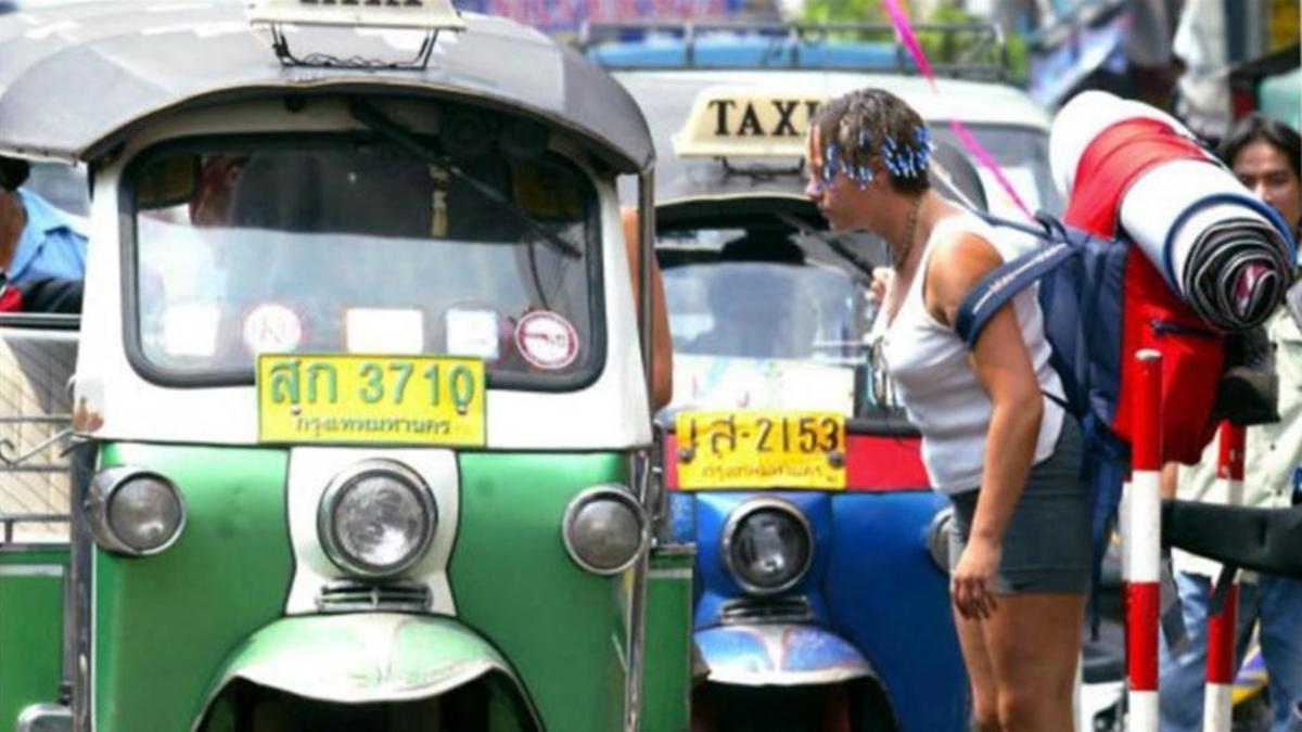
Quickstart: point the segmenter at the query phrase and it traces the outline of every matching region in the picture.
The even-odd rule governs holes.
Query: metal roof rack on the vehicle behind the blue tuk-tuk
[[[996,77],[1006,78],[1010,68],[1008,46],[1004,33],[996,23],[969,22],[969,23],[918,23],[914,31],[921,35],[948,34],[952,36],[967,35],[976,39],[976,44],[967,49],[953,63],[932,63],[932,70],[948,77]],[[789,56],[789,66],[801,68],[799,48],[806,40],[827,40],[832,35],[859,34],[859,35],[887,35],[894,36],[896,29],[891,23],[868,22],[755,22],[755,21],[626,21],[626,22],[585,22],[579,29],[577,46],[582,52],[609,43],[626,33],[669,33],[682,36],[684,68],[697,68],[697,40],[700,34],[711,31],[728,33],[754,33],[771,34],[775,43],[785,43]],[[775,51],[779,46],[775,44]],[[995,53],[996,63],[983,63],[982,59]],[[663,69],[664,65],[655,68]],[[719,68],[711,65],[710,68]],[[745,68],[753,68],[746,65]],[[917,73],[913,60],[897,49],[894,68],[900,73]]]

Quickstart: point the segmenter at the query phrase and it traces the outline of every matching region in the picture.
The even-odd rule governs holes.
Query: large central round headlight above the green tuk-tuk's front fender
[[[316,531],[340,569],[392,577],[424,556],[437,513],[418,474],[388,460],[361,462],[335,478],[322,496]]]

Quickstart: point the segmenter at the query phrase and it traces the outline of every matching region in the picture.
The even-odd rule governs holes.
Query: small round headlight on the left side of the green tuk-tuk
[[[148,556],[181,535],[185,504],[172,481],[158,473],[109,468],[91,481],[86,521],[102,548]]]

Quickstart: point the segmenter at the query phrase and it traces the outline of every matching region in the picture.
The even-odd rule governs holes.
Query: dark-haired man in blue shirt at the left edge
[[[20,186],[27,163],[0,158],[0,270],[8,283],[82,280],[86,236],[62,211]]]

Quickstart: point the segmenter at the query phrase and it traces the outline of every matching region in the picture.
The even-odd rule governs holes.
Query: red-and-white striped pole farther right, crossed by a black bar
[[[1243,503],[1243,427],[1221,422],[1216,440],[1216,479],[1225,503]],[[1207,619],[1207,692],[1203,699],[1203,732],[1229,732],[1234,711],[1234,626],[1238,619],[1238,576],[1225,595],[1225,606]]]

